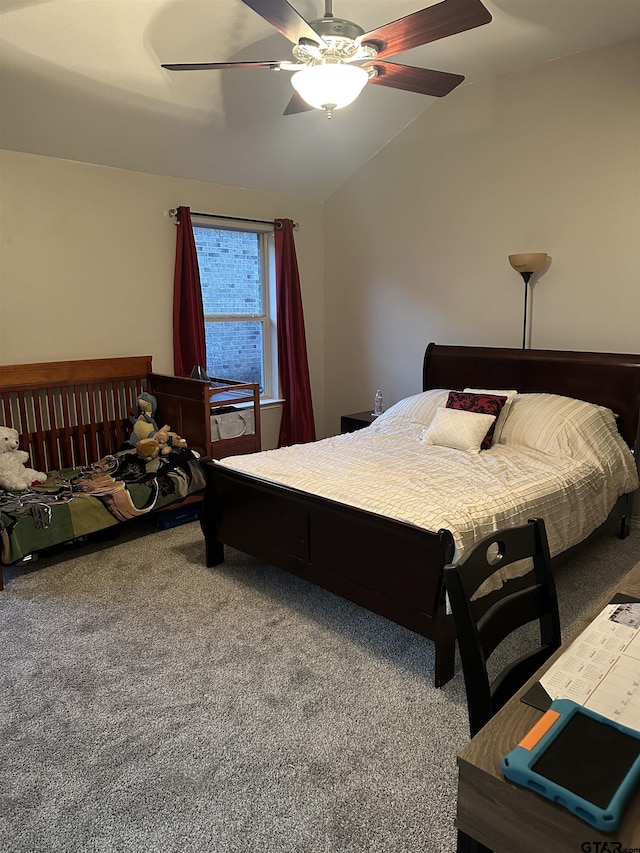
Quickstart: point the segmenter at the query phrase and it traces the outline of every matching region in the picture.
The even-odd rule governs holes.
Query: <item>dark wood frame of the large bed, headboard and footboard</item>
[[[423,389],[464,387],[549,392],[607,406],[627,444],[639,449],[640,355],[429,344]],[[429,532],[213,462],[205,472],[208,566],[223,562],[229,545],[293,572],[429,637],[436,686],[452,677],[455,633],[443,584],[454,554],[448,530]],[[624,495],[607,520],[622,537],[632,503],[633,495]]]

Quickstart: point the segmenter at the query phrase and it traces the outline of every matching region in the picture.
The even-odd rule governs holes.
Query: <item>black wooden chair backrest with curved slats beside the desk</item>
[[[523,559],[533,566],[517,581],[474,597],[495,572]],[[496,531],[444,570],[462,661],[473,737],[560,646],[560,617],[543,519]],[[515,589],[514,589],[515,587]],[[500,643],[537,620],[540,642],[490,676],[487,660]]]

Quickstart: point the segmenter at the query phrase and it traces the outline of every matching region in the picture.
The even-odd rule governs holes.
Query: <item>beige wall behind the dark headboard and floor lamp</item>
[[[336,119],[337,120],[337,119]],[[326,425],[420,390],[429,341],[640,352],[640,43],[434,103],[325,204]]]

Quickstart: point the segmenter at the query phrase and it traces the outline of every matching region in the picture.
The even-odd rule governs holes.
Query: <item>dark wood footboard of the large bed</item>
[[[286,569],[435,642],[436,686],[453,676],[455,633],[445,613],[449,531],[390,518],[205,463],[201,517],[207,565],[224,545]]]

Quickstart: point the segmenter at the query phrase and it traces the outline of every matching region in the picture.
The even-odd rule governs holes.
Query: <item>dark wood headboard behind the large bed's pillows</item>
[[[577,397],[614,411],[624,440],[640,447],[640,355],[430,343],[422,387],[514,388]]]

